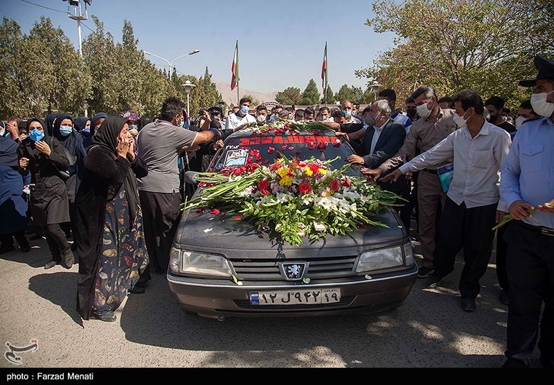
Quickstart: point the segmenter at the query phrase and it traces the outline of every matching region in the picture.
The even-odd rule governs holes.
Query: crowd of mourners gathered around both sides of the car
[[[508,306],[506,366],[529,366],[539,336],[544,366],[554,360],[554,62],[535,58],[530,100],[510,115],[505,100],[465,90],[438,97],[420,86],[397,105],[384,89],[359,104],[294,109],[243,98],[224,116],[220,106],[189,118],[170,97],[158,117],[60,113],[0,130],[0,253],[30,250],[44,236],[45,269],[79,261],[77,307],[83,319],[114,321],[129,292],[145,291],[168,269],[180,205],[194,192],[186,171],[204,171],[226,136],[279,119],[321,122],[348,141],[348,162],[409,202],[399,209],[409,229],[415,214],[422,259],[418,277],[436,288],[463,250],[461,308],[476,310],[479,283],[497,232],[499,301]],[[402,108],[403,107],[403,108]],[[403,110],[403,111],[402,111]],[[73,240],[73,243],[68,241]],[[32,238],[33,239],[33,238]]]

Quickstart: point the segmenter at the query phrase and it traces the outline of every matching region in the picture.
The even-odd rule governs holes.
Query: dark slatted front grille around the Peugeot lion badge
[[[279,270],[279,263],[310,263],[304,278],[332,279],[355,276],[357,256],[315,257],[305,259],[231,259],[235,273],[241,281],[287,281]]]

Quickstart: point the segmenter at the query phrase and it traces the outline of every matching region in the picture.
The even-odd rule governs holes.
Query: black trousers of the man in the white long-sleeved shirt
[[[494,241],[497,204],[468,209],[447,197],[437,229],[433,253],[434,275],[443,277],[454,271],[456,254],[463,247],[464,267],[458,288],[462,298],[475,299],[481,285],[479,279],[487,271]]]

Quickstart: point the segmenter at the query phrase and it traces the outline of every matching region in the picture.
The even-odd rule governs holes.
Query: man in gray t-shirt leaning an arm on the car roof
[[[160,120],[144,126],[136,142],[139,157],[148,166],[148,176],[137,180],[146,248],[154,272],[160,273],[168,270],[170,247],[181,214],[179,153],[220,135],[217,129],[194,132],[182,128],[183,111],[183,102],[170,97],[163,102]],[[144,292],[149,280],[147,268],[133,292]]]

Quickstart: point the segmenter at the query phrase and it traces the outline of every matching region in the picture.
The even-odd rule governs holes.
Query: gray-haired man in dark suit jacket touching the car
[[[371,105],[367,120],[372,120],[372,124],[364,126],[365,129],[361,129],[355,133],[337,133],[348,140],[352,145],[352,148],[359,155],[351,155],[347,158],[348,162],[354,165],[362,166],[362,173],[365,169],[373,169],[381,165],[384,161],[392,158],[395,153],[404,144],[406,138],[406,129],[402,124],[395,122],[391,119],[391,106],[389,106],[386,100],[377,100]],[[361,144],[357,144],[355,138],[364,138]],[[387,189],[393,193],[402,196],[402,198],[409,198],[409,189],[406,182],[406,178],[398,178],[392,185],[389,183],[381,184],[377,182],[382,189]],[[410,229],[410,210],[405,205],[406,202],[397,202],[402,206],[400,209],[400,218],[404,227],[409,232]]]

